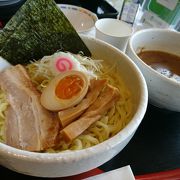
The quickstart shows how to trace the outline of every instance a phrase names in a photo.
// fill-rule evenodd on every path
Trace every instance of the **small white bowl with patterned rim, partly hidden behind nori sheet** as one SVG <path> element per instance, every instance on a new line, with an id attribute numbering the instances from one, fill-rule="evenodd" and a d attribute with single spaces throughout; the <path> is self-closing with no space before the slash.
<path id="1" fill-rule="evenodd" d="M 95 13 L 82 7 L 68 4 L 58 6 L 78 33 L 91 31 L 98 19 Z"/>

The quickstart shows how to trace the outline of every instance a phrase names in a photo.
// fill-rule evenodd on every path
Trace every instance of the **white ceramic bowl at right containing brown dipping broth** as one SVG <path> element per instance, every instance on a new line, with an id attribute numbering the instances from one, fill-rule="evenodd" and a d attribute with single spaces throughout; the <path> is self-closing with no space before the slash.
<path id="1" fill-rule="evenodd" d="M 180 56 L 180 33 L 165 29 L 146 29 L 133 34 L 126 50 L 127 55 L 142 71 L 153 105 L 180 112 L 180 82 L 170 79 L 145 64 L 137 52 L 143 50 L 160 50 Z"/>

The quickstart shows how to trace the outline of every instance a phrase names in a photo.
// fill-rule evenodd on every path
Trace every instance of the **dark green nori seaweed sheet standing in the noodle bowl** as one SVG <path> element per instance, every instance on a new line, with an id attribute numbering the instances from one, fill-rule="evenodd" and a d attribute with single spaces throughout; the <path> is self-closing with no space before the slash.
<path id="1" fill-rule="evenodd" d="M 27 0 L 0 33 L 0 56 L 26 64 L 56 51 L 91 53 L 54 0 Z"/>

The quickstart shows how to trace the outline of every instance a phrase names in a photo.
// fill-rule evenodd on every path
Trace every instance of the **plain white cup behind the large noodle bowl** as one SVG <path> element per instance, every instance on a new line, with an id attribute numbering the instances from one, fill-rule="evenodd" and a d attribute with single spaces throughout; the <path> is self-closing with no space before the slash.
<path id="1" fill-rule="evenodd" d="M 103 18 L 95 23 L 95 36 L 125 52 L 132 26 L 119 19 Z"/>

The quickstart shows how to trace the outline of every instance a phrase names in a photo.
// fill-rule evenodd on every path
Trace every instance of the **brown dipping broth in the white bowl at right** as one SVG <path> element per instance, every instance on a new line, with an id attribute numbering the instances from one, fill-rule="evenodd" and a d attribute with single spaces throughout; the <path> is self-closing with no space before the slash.
<path id="1" fill-rule="evenodd" d="M 153 50 L 141 51 L 137 55 L 157 72 L 180 81 L 180 56 Z"/>

